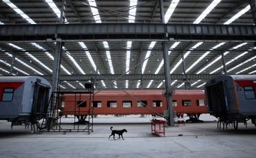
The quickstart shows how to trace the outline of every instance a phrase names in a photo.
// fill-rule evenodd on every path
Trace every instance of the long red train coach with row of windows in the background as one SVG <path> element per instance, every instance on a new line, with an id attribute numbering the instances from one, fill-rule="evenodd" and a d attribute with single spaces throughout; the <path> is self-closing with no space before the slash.
<path id="1" fill-rule="evenodd" d="M 62 114 L 87 116 L 93 106 L 93 115 L 158 115 L 167 110 L 164 91 L 161 90 L 113 90 L 99 91 L 89 103 L 88 94 L 63 95 Z M 198 118 L 207 113 L 202 90 L 176 90 L 173 93 L 173 110 Z M 90 105 L 91 104 L 91 105 Z"/>

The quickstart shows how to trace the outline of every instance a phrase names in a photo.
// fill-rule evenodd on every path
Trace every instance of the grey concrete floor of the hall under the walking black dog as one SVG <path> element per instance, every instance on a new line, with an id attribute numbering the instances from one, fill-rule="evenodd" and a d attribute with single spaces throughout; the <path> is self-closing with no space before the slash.
<path id="1" fill-rule="evenodd" d="M 100 123 L 101 120 L 105 122 Z M 134 123 L 133 120 L 139 120 Z M 107 122 L 106 120 L 109 120 Z M 113 120 L 118 120 L 114 122 Z M 123 120 L 121 122 L 120 120 Z M 216 122 L 167 127 L 166 134 L 152 135 L 148 118 L 96 118 L 94 133 L 31 133 L 23 126 L 0 121 L 0 157 L 256 157 L 256 128 L 218 130 Z M 110 135 L 127 128 L 125 140 Z M 178 136 L 182 134 L 183 136 Z"/>

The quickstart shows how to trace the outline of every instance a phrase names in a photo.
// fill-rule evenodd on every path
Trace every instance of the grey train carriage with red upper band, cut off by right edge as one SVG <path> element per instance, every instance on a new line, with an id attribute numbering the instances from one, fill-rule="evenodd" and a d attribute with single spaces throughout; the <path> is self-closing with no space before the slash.
<path id="1" fill-rule="evenodd" d="M 224 75 L 209 80 L 206 85 L 209 113 L 222 122 L 256 124 L 256 75 Z"/>

